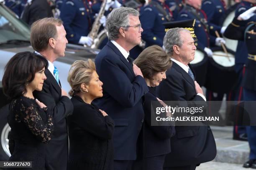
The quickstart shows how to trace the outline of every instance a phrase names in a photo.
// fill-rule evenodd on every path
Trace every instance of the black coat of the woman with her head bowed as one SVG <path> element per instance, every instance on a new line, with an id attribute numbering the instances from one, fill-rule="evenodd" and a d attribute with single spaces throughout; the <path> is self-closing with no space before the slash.
<path id="1" fill-rule="evenodd" d="M 148 89 L 149 92 L 145 95 L 145 102 L 143 105 L 145 114 L 144 157 L 146 158 L 170 153 L 170 138 L 175 134 L 175 128 L 173 125 L 163 126 L 159 124 L 159 126 L 151 126 L 151 107 L 155 110 L 156 107 L 163 106 L 156 99 L 156 91 L 154 90 L 154 87 L 148 87 Z M 154 103 L 151 105 L 151 102 Z M 165 117 L 165 115 L 159 116 Z M 152 118 L 155 119 L 155 117 L 156 114 L 152 115 Z"/>

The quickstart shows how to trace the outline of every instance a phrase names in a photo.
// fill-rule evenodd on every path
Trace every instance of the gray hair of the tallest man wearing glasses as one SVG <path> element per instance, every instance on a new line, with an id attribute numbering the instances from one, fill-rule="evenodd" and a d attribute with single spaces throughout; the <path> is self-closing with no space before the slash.
<path id="1" fill-rule="evenodd" d="M 118 39 L 119 29 L 123 27 L 125 30 L 130 26 L 129 15 L 139 16 L 140 13 L 131 7 L 115 8 L 106 20 L 106 29 L 108 30 L 108 38 L 110 40 Z"/>

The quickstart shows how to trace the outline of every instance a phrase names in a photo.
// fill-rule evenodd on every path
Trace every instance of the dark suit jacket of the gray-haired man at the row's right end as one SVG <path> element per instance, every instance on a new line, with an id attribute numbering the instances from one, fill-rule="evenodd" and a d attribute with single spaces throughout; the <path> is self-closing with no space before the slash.
<path id="1" fill-rule="evenodd" d="M 165 101 L 204 101 L 196 95 L 192 78 L 175 62 L 157 87 L 157 93 Z M 215 158 L 216 144 L 209 126 L 175 126 L 175 131 L 172 152 L 166 155 L 164 167 L 199 164 Z"/>

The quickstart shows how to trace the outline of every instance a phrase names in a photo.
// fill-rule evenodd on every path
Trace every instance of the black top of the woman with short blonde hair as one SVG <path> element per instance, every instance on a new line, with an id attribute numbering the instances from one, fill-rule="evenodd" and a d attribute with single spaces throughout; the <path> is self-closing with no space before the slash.
<path id="1" fill-rule="evenodd" d="M 79 96 L 71 98 L 74 112 L 68 117 L 69 170 L 110 170 L 113 166 L 114 121 Z M 110 168 L 110 169 L 108 169 Z"/>

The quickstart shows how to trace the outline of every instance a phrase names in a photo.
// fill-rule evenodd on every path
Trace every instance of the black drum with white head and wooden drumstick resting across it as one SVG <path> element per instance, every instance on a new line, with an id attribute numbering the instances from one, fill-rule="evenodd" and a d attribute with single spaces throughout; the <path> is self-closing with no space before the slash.
<path id="1" fill-rule="evenodd" d="M 236 82 L 235 52 L 228 50 L 228 56 L 221 47 L 212 49 L 209 57 L 205 87 L 213 92 L 229 92 Z"/>

